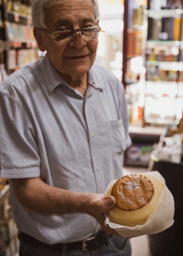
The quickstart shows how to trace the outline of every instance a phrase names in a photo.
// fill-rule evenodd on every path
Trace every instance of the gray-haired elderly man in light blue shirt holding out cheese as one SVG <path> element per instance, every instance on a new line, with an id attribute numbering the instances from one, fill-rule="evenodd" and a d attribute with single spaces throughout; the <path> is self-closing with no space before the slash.
<path id="1" fill-rule="evenodd" d="M 33 31 L 46 56 L 0 86 L 1 177 L 10 180 L 20 256 L 130 256 L 128 239 L 104 224 L 104 196 L 122 176 L 130 145 L 125 92 L 93 65 L 96 0 L 32 0 Z"/>

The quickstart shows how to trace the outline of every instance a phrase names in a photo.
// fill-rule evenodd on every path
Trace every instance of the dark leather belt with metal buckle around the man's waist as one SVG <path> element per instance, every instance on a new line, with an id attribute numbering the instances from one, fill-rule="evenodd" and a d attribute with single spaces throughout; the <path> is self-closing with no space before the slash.
<path id="1" fill-rule="evenodd" d="M 49 250 L 49 251 L 61 251 L 63 245 L 67 246 L 68 251 L 93 251 L 99 247 L 101 247 L 103 244 L 107 244 L 108 237 L 111 237 L 112 235 L 107 235 L 105 231 L 99 231 L 96 234 L 94 234 L 91 237 L 88 237 L 82 241 L 77 241 L 73 243 L 59 243 L 59 244 L 53 244 L 49 245 L 46 243 L 43 243 L 37 239 L 35 239 L 32 236 L 29 236 L 23 232 L 19 232 L 19 239 L 22 240 L 24 243 L 27 243 L 29 245 L 35 246 L 39 249 Z"/>

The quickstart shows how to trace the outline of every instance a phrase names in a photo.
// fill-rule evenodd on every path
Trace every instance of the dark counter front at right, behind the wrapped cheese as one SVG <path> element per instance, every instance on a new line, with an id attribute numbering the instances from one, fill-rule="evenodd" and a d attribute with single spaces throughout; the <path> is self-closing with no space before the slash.
<path id="1" fill-rule="evenodd" d="M 163 232 L 149 235 L 152 256 L 183 255 L 183 165 L 151 161 L 150 170 L 160 172 L 175 202 L 174 224 Z"/>

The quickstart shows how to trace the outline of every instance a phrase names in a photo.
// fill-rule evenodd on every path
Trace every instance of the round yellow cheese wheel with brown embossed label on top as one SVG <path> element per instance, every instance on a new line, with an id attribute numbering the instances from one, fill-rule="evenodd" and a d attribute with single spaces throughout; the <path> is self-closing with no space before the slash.
<path id="1" fill-rule="evenodd" d="M 118 179 L 106 192 L 116 205 L 106 215 L 111 222 L 135 227 L 143 225 L 154 212 L 164 185 L 154 176 L 130 174 Z"/>

